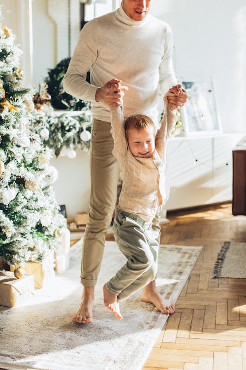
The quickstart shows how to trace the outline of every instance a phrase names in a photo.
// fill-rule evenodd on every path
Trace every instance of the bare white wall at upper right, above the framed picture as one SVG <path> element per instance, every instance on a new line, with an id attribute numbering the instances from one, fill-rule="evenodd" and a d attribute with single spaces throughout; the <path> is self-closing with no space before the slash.
<path id="1" fill-rule="evenodd" d="M 154 0 L 170 24 L 178 77 L 215 82 L 224 132 L 246 131 L 245 0 Z"/>

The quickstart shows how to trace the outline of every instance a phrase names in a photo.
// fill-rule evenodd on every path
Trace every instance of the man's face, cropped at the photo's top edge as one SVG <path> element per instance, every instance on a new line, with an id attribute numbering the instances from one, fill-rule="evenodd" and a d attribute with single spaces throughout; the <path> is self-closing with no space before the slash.
<path id="1" fill-rule="evenodd" d="M 149 12 L 151 2 L 152 0 L 123 0 L 122 6 L 129 18 L 139 22 Z"/>

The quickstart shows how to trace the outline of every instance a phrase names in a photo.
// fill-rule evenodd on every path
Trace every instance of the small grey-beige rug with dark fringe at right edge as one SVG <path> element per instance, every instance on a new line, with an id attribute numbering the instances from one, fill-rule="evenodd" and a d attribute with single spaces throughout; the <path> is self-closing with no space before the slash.
<path id="1" fill-rule="evenodd" d="M 246 279 L 246 243 L 224 242 L 215 262 L 213 278 Z"/>

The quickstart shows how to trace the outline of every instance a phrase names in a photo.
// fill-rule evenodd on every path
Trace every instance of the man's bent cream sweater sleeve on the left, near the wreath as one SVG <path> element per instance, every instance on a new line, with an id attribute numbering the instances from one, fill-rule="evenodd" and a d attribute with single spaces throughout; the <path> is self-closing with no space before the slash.
<path id="1" fill-rule="evenodd" d="M 95 101 L 98 87 L 86 81 L 86 74 L 97 58 L 97 33 L 98 27 L 95 20 L 83 27 L 63 77 L 63 87 L 68 94 L 90 102 Z"/>

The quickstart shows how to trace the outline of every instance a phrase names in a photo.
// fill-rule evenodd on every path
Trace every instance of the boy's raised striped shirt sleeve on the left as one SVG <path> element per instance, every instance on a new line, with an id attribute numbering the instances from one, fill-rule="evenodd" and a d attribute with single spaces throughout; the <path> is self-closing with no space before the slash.
<path id="1" fill-rule="evenodd" d="M 114 139 L 113 154 L 116 158 L 125 155 L 127 141 L 124 132 L 123 107 L 110 107 L 111 134 Z"/>

